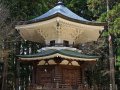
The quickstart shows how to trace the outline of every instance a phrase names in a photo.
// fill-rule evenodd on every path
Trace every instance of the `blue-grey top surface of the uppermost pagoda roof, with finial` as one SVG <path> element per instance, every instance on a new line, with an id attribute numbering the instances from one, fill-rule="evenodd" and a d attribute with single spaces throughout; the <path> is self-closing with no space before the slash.
<path id="1" fill-rule="evenodd" d="M 77 14 L 73 13 L 71 10 L 69 10 L 67 7 L 65 7 L 62 2 L 58 2 L 54 8 L 52 8 L 45 14 L 30 20 L 29 22 L 41 21 L 43 19 L 49 18 L 49 17 L 57 15 L 57 14 L 68 17 L 70 19 L 89 22 L 87 19 L 84 19 L 84 18 L 78 16 Z"/>

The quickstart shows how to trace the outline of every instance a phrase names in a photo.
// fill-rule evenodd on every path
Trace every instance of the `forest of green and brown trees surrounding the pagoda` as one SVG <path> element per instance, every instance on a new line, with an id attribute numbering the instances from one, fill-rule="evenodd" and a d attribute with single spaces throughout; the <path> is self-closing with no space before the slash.
<path id="1" fill-rule="evenodd" d="M 18 62 L 15 59 L 16 45 L 21 42 L 20 50 L 26 50 L 27 42 L 22 40 L 18 32 L 14 29 L 16 24 L 30 20 L 42 15 L 53 8 L 58 0 L 0 0 L 0 88 L 4 80 L 7 80 L 6 88 L 19 87 L 18 78 L 21 78 L 22 88 L 27 87 L 30 70 L 28 65 L 20 64 L 17 71 Z M 113 54 L 115 58 L 115 80 L 120 86 L 120 0 L 109 0 L 110 10 L 107 15 L 106 0 L 63 0 L 65 6 L 79 16 L 91 21 L 110 21 L 109 30 L 104 30 L 101 38 L 96 43 L 85 44 L 82 50 L 84 53 L 94 53 L 100 55 L 94 70 L 88 70 L 87 75 L 90 85 L 109 84 L 109 48 L 108 35 L 112 35 Z M 107 17 L 109 16 L 109 17 Z M 37 47 L 36 47 L 37 48 Z M 37 49 L 36 49 L 37 50 Z M 94 51 L 93 51 L 94 50 Z M 2 53 L 8 53 L 7 58 L 2 57 Z M 3 63 L 4 62 L 4 63 Z M 3 67 L 6 66 L 7 69 Z M 5 79 L 3 80 L 3 71 Z M 19 75 L 18 75 L 19 73 Z M 26 78 L 27 77 L 27 78 Z"/>

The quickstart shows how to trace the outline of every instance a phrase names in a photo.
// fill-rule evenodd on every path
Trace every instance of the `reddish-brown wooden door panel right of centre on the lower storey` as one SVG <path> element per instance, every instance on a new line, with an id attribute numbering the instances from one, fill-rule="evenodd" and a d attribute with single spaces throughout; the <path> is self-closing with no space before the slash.
<path id="1" fill-rule="evenodd" d="M 77 67 L 66 67 L 63 68 L 63 83 L 68 84 L 72 87 L 78 86 L 81 80 L 80 69 Z"/>

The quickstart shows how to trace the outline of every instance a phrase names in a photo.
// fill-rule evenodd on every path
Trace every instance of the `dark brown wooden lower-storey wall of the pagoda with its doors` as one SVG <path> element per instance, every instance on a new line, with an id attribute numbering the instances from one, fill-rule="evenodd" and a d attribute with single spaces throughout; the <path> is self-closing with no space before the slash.
<path id="1" fill-rule="evenodd" d="M 60 84 L 60 87 L 72 86 L 75 88 L 81 83 L 82 75 L 81 69 L 77 66 L 59 66 L 55 69 L 55 66 L 38 66 L 36 72 L 36 84 L 46 85 L 51 84 L 56 87 L 56 83 Z"/>

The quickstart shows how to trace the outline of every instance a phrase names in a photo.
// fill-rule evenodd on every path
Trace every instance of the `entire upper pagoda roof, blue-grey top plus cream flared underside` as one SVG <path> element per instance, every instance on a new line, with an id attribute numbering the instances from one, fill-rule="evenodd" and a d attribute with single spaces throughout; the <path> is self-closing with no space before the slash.
<path id="1" fill-rule="evenodd" d="M 22 23 L 21 23 L 22 24 Z M 104 30 L 105 23 L 88 21 L 64 6 L 62 2 L 45 14 L 17 25 L 23 39 L 49 44 L 51 40 L 56 43 L 69 41 L 69 44 L 79 44 L 97 41 L 100 32 Z"/>

